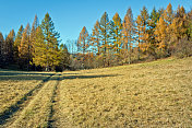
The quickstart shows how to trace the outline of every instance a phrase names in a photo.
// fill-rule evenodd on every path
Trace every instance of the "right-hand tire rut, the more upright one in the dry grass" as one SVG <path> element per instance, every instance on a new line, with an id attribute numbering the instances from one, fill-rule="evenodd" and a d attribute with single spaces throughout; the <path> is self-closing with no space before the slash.
<path id="1" fill-rule="evenodd" d="M 61 74 L 58 74 L 57 84 L 55 86 L 52 97 L 51 97 L 51 106 L 50 106 L 48 128 L 56 128 L 57 124 L 59 121 L 59 117 L 58 117 L 57 112 L 58 112 L 58 108 L 59 108 L 60 81 L 61 81 Z"/>

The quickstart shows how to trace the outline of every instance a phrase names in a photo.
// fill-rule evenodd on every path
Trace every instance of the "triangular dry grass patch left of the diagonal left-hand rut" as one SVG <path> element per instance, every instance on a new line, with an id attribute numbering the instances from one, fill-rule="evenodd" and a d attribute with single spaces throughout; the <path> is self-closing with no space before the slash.
<path id="1" fill-rule="evenodd" d="M 0 114 L 16 104 L 26 93 L 36 88 L 48 74 L 22 71 L 0 71 Z"/>

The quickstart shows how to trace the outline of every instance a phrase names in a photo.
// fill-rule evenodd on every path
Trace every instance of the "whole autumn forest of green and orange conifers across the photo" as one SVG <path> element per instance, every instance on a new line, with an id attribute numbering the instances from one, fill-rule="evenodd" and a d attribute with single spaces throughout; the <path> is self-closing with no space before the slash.
<path id="1" fill-rule="evenodd" d="M 71 43 L 71 44 L 70 44 Z M 75 45 L 75 46 L 74 46 Z M 172 10 L 145 7 L 133 19 L 131 8 L 123 20 L 116 13 L 109 20 L 105 12 L 88 33 L 84 26 L 75 43 L 67 45 L 59 39 L 53 22 L 47 13 L 38 24 L 37 15 L 32 27 L 21 25 L 15 35 L 0 33 L 0 68 L 22 70 L 65 70 L 111 67 L 166 57 L 192 56 L 192 10 L 183 7 Z"/>

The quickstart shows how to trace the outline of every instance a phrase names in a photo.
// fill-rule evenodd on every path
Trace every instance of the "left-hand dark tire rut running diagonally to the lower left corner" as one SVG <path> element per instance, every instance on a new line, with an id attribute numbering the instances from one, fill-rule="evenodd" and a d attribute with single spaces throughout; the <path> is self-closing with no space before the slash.
<path id="1" fill-rule="evenodd" d="M 14 115 L 22 112 L 24 107 L 29 103 L 29 101 L 40 91 L 46 82 L 55 74 L 50 74 L 48 78 L 44 79 L 39 84 L 37 84 L 33 90 L 26 93 L 22 98 L 20 98 L 15 104 L 11 105 L 7 110 L 0 114 L 0 128 L 8 126 L 14 121 Z M 8 124 L 8 125 L 7 125 Z"/>

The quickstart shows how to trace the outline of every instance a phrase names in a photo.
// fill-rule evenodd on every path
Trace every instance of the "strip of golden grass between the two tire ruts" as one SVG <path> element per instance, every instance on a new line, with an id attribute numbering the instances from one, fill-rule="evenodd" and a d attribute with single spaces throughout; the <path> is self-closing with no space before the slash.
<path id="1" fill-rule="evenodd" d="M 51 100 L 57 84 L 56 77 L 48 81 L 35 98 L 24 108 L 20 117 L 10 128 L 37 128 L 48 127 L 51 113 Z"/>

